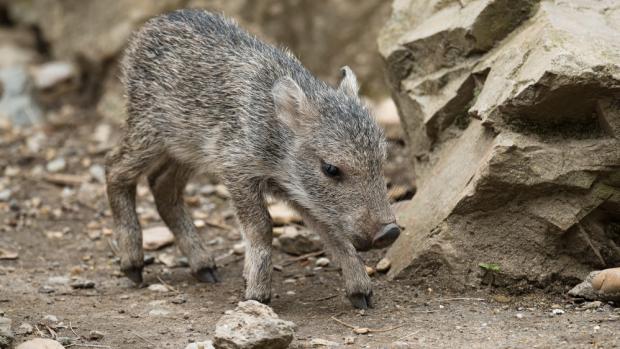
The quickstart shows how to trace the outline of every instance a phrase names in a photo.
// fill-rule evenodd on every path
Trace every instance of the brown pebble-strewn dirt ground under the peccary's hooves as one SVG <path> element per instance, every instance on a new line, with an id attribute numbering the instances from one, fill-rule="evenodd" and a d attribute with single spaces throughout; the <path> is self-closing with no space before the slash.
<path id="1" fill-rule="evenodd" d="M 221 283 L 201 284 L 187 267 L 158 262 L 162 254 L 180 257 L 173 245 L 149 253 L 155 262 L 145 274 L 146 284 L 163 281 L 169 291 L 133 286 L 119 274 L 111 248 L 104 186 L 88 179 L 106 149 L 95 126 L 69 117 L 41 131 L 45 137 L 2 131 L 0 186 L 11 195 L 0 202 L 0 248 L 19 256 L 0 260 L 0 310 L 13 321 L 16 343 L 57 336 L 69 337 L 71 347 L 184 348 L 211 338 L 218 318 L 235 307 L 243 290 L 242 257 L 229 254 L 240 239 L 229 203 L 216 194 L 201 194 L 207 178 L 188 188 L 194 212 L 206 214 L 209 223 L 200 229 L 202 236 L 215 256 L 223 256 Z M 117 135 L 113 129 L 110 142 Z M 37 137 L 40 144 L 33 145 Z M 393 145 L 388 168 L 395 181 L 406 177 L 399 147 Z M 54 184 L 58 178 L 44 179 L 46 164 L 58 157 L 66 160 L 61 173 L 86 175 L 87 184 L 80 183 L 81 177 L 65 178 L 66 185 Z M 162 224 L 144 183 L 138 196 L 143 226 Z M 381 256 L 381 251 L 364 254 L 371 266 Z M 276 251 L 274 262 L 284 265 L 291 258 Z M 94 281 L 94 288 L 73 289 L 72 278 Z M 586 309 L 593 305 L 542 291 L 506 295 L 480 286 L 451 294 L 439 285 L 390 281 L 382 274 L 373 279 L 375 307 L 359 311 L 343 297 L 336 268 L 316 270 L 312 260 L 295 262 L 274 273 L 271 306 L 298 325 L 293 347 L 307 347 L 315 338 L 344 345 L 345 337 L 354 338 L 350 348 L 620 347 L 620 309 L 609 304 Z M 554 308 L 564 313 L 551 315 Z M 356 335 L 334 318 L 383 331 Z M 24 333 L 23 323 L 34 327 L 32 333 Z M 91 331 L 103 338 L 95 339 Z"/>

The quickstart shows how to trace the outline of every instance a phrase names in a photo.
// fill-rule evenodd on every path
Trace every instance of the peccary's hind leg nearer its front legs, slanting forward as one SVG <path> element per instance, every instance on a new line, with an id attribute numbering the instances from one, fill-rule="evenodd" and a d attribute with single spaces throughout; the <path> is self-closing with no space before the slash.
<path id="1" fill-rule="evenodd" d="M 157 211 L 176 237 L 192 274 L 202 282 L 217 282 L 215 261 L 198 235 L 183 200 L 183 190 L 191 175 L 189 167 L 170 160 L 150 174 L 148 179 Z"/>

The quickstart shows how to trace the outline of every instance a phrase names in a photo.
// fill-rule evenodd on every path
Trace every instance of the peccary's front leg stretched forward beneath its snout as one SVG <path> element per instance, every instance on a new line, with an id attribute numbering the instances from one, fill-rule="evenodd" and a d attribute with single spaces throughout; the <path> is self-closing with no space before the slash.
<path id="1" fill-rule="evenodd" d="M 353 244 L 339 232 L 330 231 L 325 224 L 315 220 L 303 209 L 298 210 L 302 212 L 304 223 L 320 235 L 325 250 L 342 269 L 345 290 L 351 304 L 359 309 L 372 307 L 372 281 Z"/>

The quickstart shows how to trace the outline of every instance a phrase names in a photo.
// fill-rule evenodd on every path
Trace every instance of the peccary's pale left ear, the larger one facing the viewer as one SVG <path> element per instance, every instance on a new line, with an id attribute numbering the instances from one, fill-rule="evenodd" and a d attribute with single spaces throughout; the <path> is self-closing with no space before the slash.
<path id="1" fill-rule="evenodd" d="M 299 130 L 310 112 L 308 99 L 301 87 L 290 77 L 276 81 L 271 89 L 276 116 L 293 131 Z"/>

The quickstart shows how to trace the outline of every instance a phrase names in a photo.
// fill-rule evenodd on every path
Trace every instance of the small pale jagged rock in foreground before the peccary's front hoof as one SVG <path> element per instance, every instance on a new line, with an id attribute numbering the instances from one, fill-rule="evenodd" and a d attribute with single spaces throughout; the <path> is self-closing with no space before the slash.
<path id="1" fill-rule="evenodd" d="M 293 340 L 295 324 L 282 320 L 257 301 L 239 302 L 215 328 L 216 349 L 284 349 Z"/>

